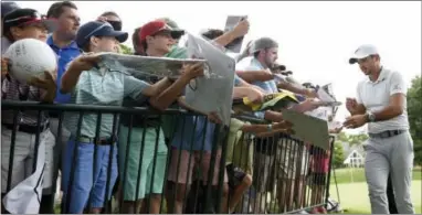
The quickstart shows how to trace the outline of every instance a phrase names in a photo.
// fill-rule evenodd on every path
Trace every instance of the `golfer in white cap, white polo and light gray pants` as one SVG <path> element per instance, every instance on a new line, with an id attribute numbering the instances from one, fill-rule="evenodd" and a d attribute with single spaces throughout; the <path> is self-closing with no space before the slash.
<path id="1" fill-rule="evenodd" d="M 358 63 L 368 76 L 358 84 L 356 99 L 347 98 L 346 107 L 351 117 L 344 126 L 359 128 L 368 123 L 365 173 L 372 214 L 389 214 L 387 179 L 390 172 L 399 214 L 414 214 L 410 197 L 413 140 L 409 132 L 403 77 L 381 66 L 380 55 L 372 45 L 361 45 L 349 63 Z"/>

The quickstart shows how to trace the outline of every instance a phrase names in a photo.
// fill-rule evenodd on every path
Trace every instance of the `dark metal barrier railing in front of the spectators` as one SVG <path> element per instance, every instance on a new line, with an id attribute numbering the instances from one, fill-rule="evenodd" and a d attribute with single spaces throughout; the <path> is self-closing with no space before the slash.
<path id="1" fill-rule="evenodd" d="M 35 174 L 44 146 L 38 185 L 53 195 L 61 172 L 56 213 L 295 213 L 328 200 L 333 141 L 325 151 L 283 133 L 259 138 L 249 131 L 265 122 L 254 118 L 236 117 L 243 127 L 234 129 L 180 109 L 11 100 L 1 107 L 13 114 L 10 125 L 2 119 L 2 198 Z M 18 126 L 28 110 L 36 112 L 30 135 Z M 48 112 L 55 118 L 43 126 Z M 169 118 L 172 130 L 162 132 Z M 22 153 L 22 144 L 31 150 Z M 18 174 L 28 158 L 32 168 Z M 54 198 L 40 202 L 40 213 L 45 205 L 53 212 Z"/>

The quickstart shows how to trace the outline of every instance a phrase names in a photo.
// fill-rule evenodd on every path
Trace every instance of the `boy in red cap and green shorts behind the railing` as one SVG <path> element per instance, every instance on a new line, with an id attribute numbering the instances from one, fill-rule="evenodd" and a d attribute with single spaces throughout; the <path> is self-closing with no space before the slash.
<path id="1" fill-rule="evenodd" d="M 140 28 L 138 32 L 138 40 L 141 44 L 141 53 L 148 56 L 162 57 L 167 54 L 173 45 L 173 40 L 180 37 L 182 32 L 180 30 L 172 30 L 161 20 L 151 21 Z M 167 78 L 158 80 L 158 83 L 166 82 Z M 168 87 L 168 86 L 163 86 Z M 166 88 L 163 88 L 166 89 Z M 182 89 L 172 90 L 172 97 L 167 97 L 169 100 L 166 106 L 171 105 L 175 98 L 178 97 Z M 170 89 L 166 90 L 169 93 Z M 126 107 L 133 106 L 146 106 L 148 104 L 139 104 L 133 99 L 125 99 L 124 105 Z M 124 208 L 128 209 L 128 213 L 140 213 L 134 207 L 134 202 L 140 202 L 149 195 L 150 213 L 159 213 L 161 203 L 162 186 L 166 183 L 165 171 L 167 165 L 167 147 L 165 143 L 165 136 L 162 129 L 157 130 L 160 126 L 160 116 L 148 117 L 134 117 L 133 128 L 130 136 L 130 149 L 127 146 L 127 133 L 129 131 L 130 118 L 129 116 L 123 116 L 120 125 L 119 147 L 122 149 L 120 157 L 120 180 L 124 185 Z M 146 130 L 145 141 L 143 141 L 143 133 Z M 156 140 L 158 136 L 158 149 L 156 149 Z M 144 144 L 144 147 L 143 147 Z M 140 150 L 143 155 L 140 157 Z M 129 158 L 126 157 L 126 150 L 129 150 Z M 143 160 L 140 160 L 143 158 Z M 128 159 L 128 164 L 125 166 L 125 160 Z M 154 159 L 156 159 L 154 161 Z M 141 164 L 139 164 L 141 162 Z M 155 165 L 154 165 L 155 163 Z M 139 170 L 140 166 L 141 169 Z M 140 180 L 138 173 L 140 171 Z M 152 172 L 155 173 L 152 175 Z M 154 180 L 154 181 L 151 181 Z M 152 193 L 149 193 L 152 186 Z M 138 194 L 136 191 L 139 191 Z M 138 196 L 138 200 L 136 200 Z"/>

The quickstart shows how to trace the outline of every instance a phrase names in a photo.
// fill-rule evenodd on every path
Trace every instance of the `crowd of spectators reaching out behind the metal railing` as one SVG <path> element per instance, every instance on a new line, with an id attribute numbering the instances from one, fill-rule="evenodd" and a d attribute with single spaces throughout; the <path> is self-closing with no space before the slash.
<path id="1" fill-rule="evenodd" d="M 312 204 L 324 203 L 330 152 L 292 140 L 292 123 L 279 111 L 251 112 L 262 123 L 233 116 L 226 143 L 219 144 L 213 159 L 213 144 L 222 141 L 214 136 L 223 132 L 221 120 L 215 112 L 190 107 L 183 97 L 190 80 L 203 75 L 201 64 L 187 65 L 178 78 L 137 79 L 118 73 L 125 69 L 120 64 L 101 68 L 95 53 L 123 53 L 120 44 L 129 39 L 122 31 L 124 20 L 116 12 L 106 11 L 97 20 L 81 20 L 77 6 L 71 1 L 54 2 L 48 11 L 22 7 L 1 3 L 2 54 L 19 40 L 36 39 L 56 53 L 57 69 L 22 84 L 9 75 L 9 60 L 2 57 L 2 99 L 161 111 L 177 107 L 199 116 L 120 115 L 118 132 L 114 132 L 114 116 L 103 114 L 97 132 L 96 114 L 85 114 L 80 119 L 78 112 L 65 112 L 60 120 L 57 111 L 42 111 L 40 118 L 38 111 L 24 110 L 19 112 L 15 127 L 13 111 L 2 110 L 2 197 L 32 174 L 35 142 L 40 141 L 46 146 L 40 213 L 54 213 L 57 200 L 53 184 L 57 180 L 63 192 L 63 213 L 102 213 L 114 196 L 122 203 L 119 213 L 158 214 L 165 198 L 167 213 L 182 214 L 192 212 L 196 204 L 187 196 L 198 187 L 205 190 L 208 183 L 213 193 L 222 187 L 222 213 L 271 213 L 268 193 L 275 196 L 277 212 L 300 209 L 308 205 L 306 189 L 310 185 Z M 201 36 L 229 52 L 224 47 L 247 34 L 249 28 L 249 21 L 242 20 L 231 31 L 208 29 Z M 145 20 L 130 36 L 133 54 L 188 58 L 186 46 L 179 44 L 186 30 L 169 18 Z M 277 63 L 277 53 L 276 39 L 259 37 L 247 43 L 234 60 L 233 99 L 246 97 L 259 104 L 266 95 L 291 92 L 299 103 L 286 108 L 302 114 L 319 108 L 316 89 L 293 79 L 292 72 Z M 18 130 L 14 150 L 10 150 L 13 129 Z M 220 165 L 222 154 L 224 169 Z M 250 201 L 245 203 L 246 198 Z M 312 213 L 325 211 L 318 206 Z"/>

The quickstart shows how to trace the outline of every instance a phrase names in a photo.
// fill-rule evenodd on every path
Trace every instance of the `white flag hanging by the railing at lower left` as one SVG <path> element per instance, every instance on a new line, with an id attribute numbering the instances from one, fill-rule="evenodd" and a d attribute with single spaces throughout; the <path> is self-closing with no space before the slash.
<path id="1" fill-rule="evenodd" d="M 33 174 L 9 191 L 3 197 L 4 208 L 11 214 L 39 214 L 45 166 L 45 143 L 40 141 L 36 169 Z"/>

